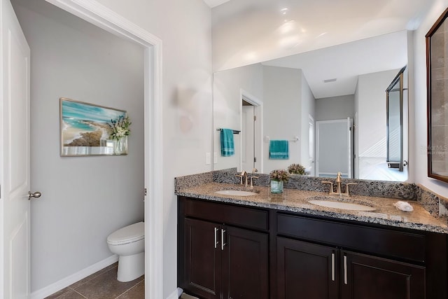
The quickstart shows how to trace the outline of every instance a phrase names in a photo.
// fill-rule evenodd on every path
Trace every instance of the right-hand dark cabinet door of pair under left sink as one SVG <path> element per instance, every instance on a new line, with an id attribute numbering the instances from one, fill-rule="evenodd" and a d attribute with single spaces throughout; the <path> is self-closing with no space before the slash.
<path id="1" fill-rule="evenodd" d="M 267 299 L 267 233 L 224 227 L 223 298 Z"/>

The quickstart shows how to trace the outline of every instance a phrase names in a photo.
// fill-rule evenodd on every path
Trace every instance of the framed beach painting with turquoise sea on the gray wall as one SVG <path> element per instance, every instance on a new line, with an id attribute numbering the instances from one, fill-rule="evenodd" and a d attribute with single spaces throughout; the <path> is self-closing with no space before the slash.
<path id="1" fill-rule="evenodd" d="M 64 97 L 59 99 L 59 109 L 61 156 L 115 155 L 109 124 L 126 117 L 126 111 Z"/>

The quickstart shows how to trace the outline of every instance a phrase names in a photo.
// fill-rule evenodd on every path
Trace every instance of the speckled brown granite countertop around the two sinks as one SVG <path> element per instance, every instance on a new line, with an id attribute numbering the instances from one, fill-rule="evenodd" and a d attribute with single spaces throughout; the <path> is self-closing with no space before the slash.
<path id="1" fill-rule="evenodd" d="M 314 216 L 325 216 L 365 223 L 377 223 L 381 225 L 391 225 L 400 228 L 411 228 L 415 230 L 426 230 L 430 232 L 448 233 L 447 218 L 435 218 L 424 209 L 419 202 L 408 201 L 414 211 L 400 211 L 393 205 L 397 199 L 386 197 L 368 197 L 353 195 L 350 197 L 338 195 L 328 195 L 323 192 L 305 191 L 297 189 L 284 189 L 282 194 L 272 194 L 268 187 L 255 186 L 253 192 L 257 195 L 233 196 L 220 195 L 215 193 L 218 190 L 248 190 L 241 185 L 230 183 L 204 183 L 190 188 L 180 188 L 176 195 L 187 197 L 197 197 L 203 200 L 216 202 L 228 202 L 232 204 L 242 204 L 251 207 L 262 207 L 276 209 L 279 211 L 292 211 Z M 308 200 L 321 199 L 325 197 L 357 204 L 365 204 L 374 207 L 373 211 L 353 211 L 347 209 L 334 209 L 311 204 Z"/>

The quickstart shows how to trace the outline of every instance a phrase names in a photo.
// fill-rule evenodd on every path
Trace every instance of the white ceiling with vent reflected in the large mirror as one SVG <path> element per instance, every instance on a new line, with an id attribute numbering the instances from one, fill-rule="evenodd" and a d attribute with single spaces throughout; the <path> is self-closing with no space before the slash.
<path id="1" fill-rule="evenodd" d="M 407 64 L 407 31 L 290 55 L 262 64 L 302 69 L 316 99 L 353 95 L 358 75 L 401 69 Z M 336 81 L 332 81 L 334 79 Z M 330 82 L 325 82 L 328 80 Z"/>

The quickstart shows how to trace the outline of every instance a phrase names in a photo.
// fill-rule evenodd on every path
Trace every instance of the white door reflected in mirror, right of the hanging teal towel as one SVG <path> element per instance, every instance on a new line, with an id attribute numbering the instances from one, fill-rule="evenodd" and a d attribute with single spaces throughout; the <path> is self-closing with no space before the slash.
<path id="1" fill-rule="evenodd" d="M 254 111 L 253 106 L 243 106 L 243 127 L 241 129 L 241 171 L 252 172 L 255 167 L 254 153 Z"/>

